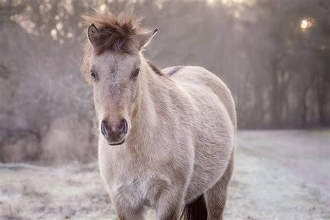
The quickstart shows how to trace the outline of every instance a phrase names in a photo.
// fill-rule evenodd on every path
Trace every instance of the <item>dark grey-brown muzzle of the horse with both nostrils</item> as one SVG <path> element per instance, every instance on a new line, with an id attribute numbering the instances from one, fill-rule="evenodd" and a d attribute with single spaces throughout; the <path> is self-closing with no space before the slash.
<path id="1" fill-rule="evenodd" d="M 125 143 L 127 131 L 128 124 L 125 118 L 120 120 L 120 123 L 116 124 L 109 123 L 107 120 L 102 120 L 101 133 L 111 146 Z"/>

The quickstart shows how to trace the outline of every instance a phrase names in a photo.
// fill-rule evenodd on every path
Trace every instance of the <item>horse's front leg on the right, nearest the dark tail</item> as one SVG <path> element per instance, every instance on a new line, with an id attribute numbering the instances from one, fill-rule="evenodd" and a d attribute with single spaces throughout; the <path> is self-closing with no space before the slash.
<path id="1" fill-rule="evenodd" d="M 184 189 L 166 190 L 159 196 L 155 207 L 157 220 L 178 220 L 184 203 Z"/>

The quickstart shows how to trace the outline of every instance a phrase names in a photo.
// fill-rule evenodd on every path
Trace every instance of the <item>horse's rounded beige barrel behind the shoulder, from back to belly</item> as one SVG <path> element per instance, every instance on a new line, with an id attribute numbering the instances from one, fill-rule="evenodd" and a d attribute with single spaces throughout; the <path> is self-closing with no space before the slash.
<path id="1" fill-rule="evenodd" d="M 203 193 L 199 189 L 212 187 L 228 166 L 235 148 L 235 104 L 226 84 L 204 68 L 178 66 L 163 71 L 193 103 L 188 123 L 194 125 L 194 173 L 186 196 L 191 201 Z"/>

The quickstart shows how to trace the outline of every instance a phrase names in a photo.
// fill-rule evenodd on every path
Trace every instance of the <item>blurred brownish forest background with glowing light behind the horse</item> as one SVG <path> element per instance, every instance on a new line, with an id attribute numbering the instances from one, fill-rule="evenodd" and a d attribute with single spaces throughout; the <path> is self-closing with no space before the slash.
<path id="1" fill-rule="evenodd" d="M 0 162 L 95 158 L 80 73 L 92 8 L 134 8 L 160 31 L 160 68 L 201 65 L 228 85 L 244 129 L 330 125 L 330 1 L 0 0 Z"/>

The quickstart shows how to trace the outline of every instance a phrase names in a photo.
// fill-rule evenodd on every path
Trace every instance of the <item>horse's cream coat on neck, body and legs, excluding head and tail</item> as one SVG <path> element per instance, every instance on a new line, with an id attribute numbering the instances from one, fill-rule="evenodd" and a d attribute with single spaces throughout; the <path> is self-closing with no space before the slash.
<path id="1" fill-rule="evenodd" d="M 184 203 L 205 194 L 211 210 L 224 206 L 236 139 L 233 97 L 223 82 L 204 68 L 185 66 L 170 78 L 152 71 L 142 54 L 136 115 L 121 146 L 98 143 L 100 172 L 120 219 L 141 219 L 143 206 L 157 219 L 178 219 Z M 168 72 L 171 68 L 163 71 Z M 228 171 L 228 180 L 231 175 Z M 222 188 L 221 188 L 222 189 Z M 207 192 L 209 192 L 207 195 Z M 212 217 L 214 216 L 214 217 Z"/>

